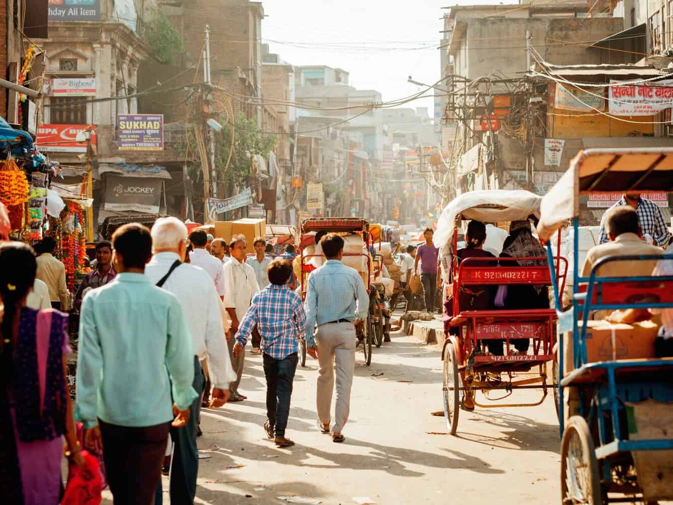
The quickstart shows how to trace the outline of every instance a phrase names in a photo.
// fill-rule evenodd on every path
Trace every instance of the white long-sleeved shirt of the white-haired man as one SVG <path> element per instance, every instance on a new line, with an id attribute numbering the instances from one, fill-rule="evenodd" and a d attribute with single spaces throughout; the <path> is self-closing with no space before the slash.
<path id="1" fill-rule="evenodd" d="M 145 275 L 157 283 L 179 259 L 176 253 L 158 253 L 145 265 Z M 219 260 L 215 258 L 219 263 Z M 192 334 L 194 354 L 208 359 L 208 372 L 213 385 L 229 389 L 236 373 L 229 358 L 227 339 L 221 316 L 221 300 L 209 275 L 199 267 L 183 263 L 166 279 L 163 288 L 174 294 Z"/>

